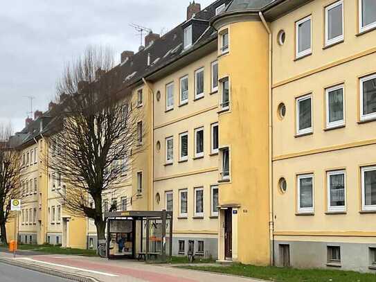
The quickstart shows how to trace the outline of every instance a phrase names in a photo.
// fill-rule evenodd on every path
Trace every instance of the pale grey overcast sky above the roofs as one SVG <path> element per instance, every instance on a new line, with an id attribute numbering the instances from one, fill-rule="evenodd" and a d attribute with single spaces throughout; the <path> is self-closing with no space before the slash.
<path id="1" fill-rule="evenodd" d="M 196 1 L 202 8 L 214 0 Z M 173 3 L 173 4 L 170 4 Z M 186 19 L 189 0 L 1 0 L 0 123 L 24 127 L 30 103 L 45 111 L 66 61 L 88 44 L 110 46 L 116 60 L 137 51 L 129 24 L 165 33 Z"/>

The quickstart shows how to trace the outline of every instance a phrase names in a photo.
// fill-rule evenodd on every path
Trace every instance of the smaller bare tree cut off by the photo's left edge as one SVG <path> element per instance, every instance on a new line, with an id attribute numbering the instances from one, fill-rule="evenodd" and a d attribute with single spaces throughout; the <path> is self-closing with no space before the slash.
<path id="1" fill-rule="evenodd" d="M 6 223 L 13 216 L 10 212 L 10 200 L 19 198 L 21 158 L 11 138 L 11 126 L 0 124 L 0 230 L 3 243 L 8 242 Z"/>

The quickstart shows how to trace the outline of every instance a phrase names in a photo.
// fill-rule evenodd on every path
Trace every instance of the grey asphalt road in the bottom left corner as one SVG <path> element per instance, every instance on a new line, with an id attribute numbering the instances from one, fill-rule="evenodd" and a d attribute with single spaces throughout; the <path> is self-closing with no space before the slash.
<path id="1" fill-rule="evenodd" d="M 26 270 L 22 267 L 0 263 L 1 282 L 71 282 L 48 274 Z"/>

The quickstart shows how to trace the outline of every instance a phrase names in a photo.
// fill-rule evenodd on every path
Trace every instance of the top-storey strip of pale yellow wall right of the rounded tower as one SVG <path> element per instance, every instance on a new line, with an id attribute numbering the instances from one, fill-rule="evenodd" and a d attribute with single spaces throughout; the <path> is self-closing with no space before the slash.
<path id="1" fill-rule="evenodd" d="M 357 0 L 344 0 L 344 39 L 345 42 L 323 50 L 324 46 L 324 7 L 333 0 L 315 0 L 280 17 L 271 23 L 273 33 L 273 82 L 274 84 L 298 76 L 305 71 L 322 67 L 337 60 L 347 58 L 368 49 L 375 49 L 376 33 L 370 32 L 357 37 Z M 312 15 L 312 55 L 301 60 L 295 59 L 295 21 Z M 279 30 L 285 30 L 283 46 L 277 43 Z"/>

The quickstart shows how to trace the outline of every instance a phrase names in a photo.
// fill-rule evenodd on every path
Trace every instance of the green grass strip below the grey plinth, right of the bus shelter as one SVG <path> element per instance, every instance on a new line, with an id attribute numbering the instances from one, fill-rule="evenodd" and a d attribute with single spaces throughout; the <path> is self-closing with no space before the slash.
<path id="1" fill-rule="evenodd" d="M 376 274 L 362 274 L 341 270 L 297 270 L 282 267 L 259 267 L 234 264 L 231 266 L 180 266 L 223 274 L 247 276 L 278 282 L 375 282 Z"/>

